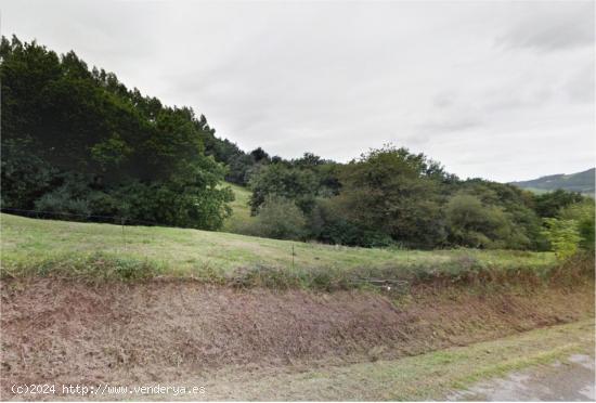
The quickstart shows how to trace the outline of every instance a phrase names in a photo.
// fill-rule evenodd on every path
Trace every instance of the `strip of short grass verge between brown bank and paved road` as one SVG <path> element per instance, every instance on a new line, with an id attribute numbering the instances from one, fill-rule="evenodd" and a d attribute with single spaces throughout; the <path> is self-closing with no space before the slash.
<path id="1" fill-rule="evenodd" d="M 399 360 L 281 372 L 252 369 L 223 376 L 210 387 L 216 400 L 432 401 L 507 373 L 594 354 L 594 320 L 552 326 L 497 340 L 438 350 Z M 193 379 L 187 380 L 193 385 Z M 195 381 L 196 382 L 196 381 Z M 483 396 L 451 396 L 483 400 Z"/>

